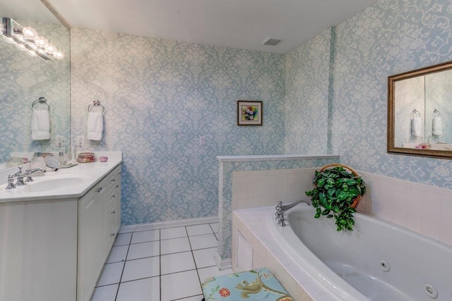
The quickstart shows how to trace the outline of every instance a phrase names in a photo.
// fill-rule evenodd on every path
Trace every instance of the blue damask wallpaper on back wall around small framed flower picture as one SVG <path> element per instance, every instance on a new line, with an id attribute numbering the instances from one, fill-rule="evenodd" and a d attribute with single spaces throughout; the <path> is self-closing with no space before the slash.
<path id="1" fill-rule="evenodd" d="M 284 55 L 79 28 L 71 44 L 71 134 L 100 100 L 86 149 L 123 152 L 124 225 L 217 216 L 215 156 L 284 153 Z M 237 125 L 239 99 L 263 102 L 262 126 Z"/>

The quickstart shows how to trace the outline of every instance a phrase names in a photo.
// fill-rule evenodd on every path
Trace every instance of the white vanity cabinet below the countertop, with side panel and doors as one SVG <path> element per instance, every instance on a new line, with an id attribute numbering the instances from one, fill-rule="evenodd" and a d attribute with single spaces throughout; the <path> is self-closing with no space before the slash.
<path id="1" fill-rule="evenodd" d="M 121 223 L 121 165 L 82 194 L 0 199 L 0 301 L 90 300 Z"/>

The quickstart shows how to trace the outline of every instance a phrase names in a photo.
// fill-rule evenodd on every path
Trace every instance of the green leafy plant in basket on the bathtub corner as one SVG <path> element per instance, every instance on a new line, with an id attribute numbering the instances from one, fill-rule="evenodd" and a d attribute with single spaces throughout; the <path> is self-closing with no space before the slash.
<path id="1" fill-rule="evenodd" d="M 357 197 L 366 192 L 364 180 L 343 166 L 335 166 L 316 171 L 313 183 L 316 188 L 307 191 L 306 195 L 311 197 L 312 206 L 316 208 L 314 217 L 334 217 L 338 231 L 353 231 L 356 209 L 351 206 Z"/>

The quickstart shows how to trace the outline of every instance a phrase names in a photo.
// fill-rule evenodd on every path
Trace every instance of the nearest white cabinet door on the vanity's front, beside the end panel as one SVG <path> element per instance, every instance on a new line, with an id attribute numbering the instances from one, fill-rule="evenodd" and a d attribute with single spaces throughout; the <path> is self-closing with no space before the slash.
<path id="1" fill-rule="evenodd" d="M 88 301 L 105 261 L 105 183 L 78 200 L 78 301 Z"/>

